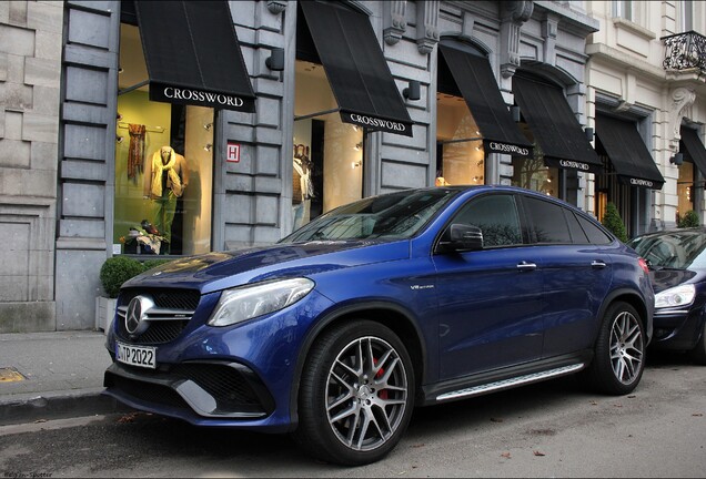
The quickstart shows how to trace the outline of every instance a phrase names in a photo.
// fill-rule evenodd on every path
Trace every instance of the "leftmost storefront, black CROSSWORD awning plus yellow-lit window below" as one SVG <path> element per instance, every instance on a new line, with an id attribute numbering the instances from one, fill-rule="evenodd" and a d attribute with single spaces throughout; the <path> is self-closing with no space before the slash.
<path id="1" fill-rule="evenodd" d="M 122 2 L 118 72 L 113 253 L 211 251 L 214 116 L 255 106 L 229 6 Z"/>

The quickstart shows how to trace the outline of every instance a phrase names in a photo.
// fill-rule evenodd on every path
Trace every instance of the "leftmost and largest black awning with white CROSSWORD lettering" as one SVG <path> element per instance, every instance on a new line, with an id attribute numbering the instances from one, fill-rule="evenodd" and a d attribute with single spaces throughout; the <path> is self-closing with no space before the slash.
<path id="1" fill-rule="evenodd" d="M 135 1 L 150 100 L 255 111 L 226 1 Z"/>

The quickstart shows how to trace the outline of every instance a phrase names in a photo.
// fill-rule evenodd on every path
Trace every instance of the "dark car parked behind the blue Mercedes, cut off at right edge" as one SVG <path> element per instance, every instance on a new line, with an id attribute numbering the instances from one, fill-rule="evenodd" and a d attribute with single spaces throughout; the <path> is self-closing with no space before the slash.
<path id="1" fill-rule="evenodd" d="M 655 349 L 687 350 L 706 365 L 706 230 L 637 236 L 628 243 L 646 261 L 655 289 Z"/>

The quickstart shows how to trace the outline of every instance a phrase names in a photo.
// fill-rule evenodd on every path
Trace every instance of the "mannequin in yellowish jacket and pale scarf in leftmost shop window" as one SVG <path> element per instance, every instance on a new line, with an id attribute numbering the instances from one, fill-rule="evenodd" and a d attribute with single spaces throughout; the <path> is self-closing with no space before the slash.
<path id="1" fill-rule="evenodd" d="M 154 152 L 144 172 L 144 197 L 152 200 L 152 225 L 164 237 L 164 253 L 169 254 L 172 238 L 172 221 L 176 211 L 176 200 L 189 184 L 186 159 L 171 146 L 162 146 Z"/>

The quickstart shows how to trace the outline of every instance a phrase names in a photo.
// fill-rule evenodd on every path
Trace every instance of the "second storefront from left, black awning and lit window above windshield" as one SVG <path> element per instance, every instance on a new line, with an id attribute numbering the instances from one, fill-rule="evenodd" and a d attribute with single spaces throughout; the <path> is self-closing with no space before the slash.
<path id="1" fill-rule="evenodd" d="M 293 126 L 293 230 L 366 195 L 372 132 L 412 136 L 367 16 L 299 2 Z"/>

